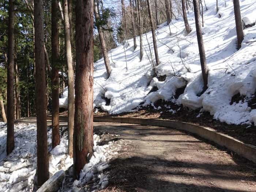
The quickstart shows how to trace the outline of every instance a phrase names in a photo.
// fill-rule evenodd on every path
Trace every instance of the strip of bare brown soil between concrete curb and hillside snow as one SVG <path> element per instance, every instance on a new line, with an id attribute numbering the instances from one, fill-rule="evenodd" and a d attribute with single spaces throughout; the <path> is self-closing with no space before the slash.
<path id="1" fill-rule="evenodd" d="M 254 98 L 253 98 L 254 99 Z M 255 100 L 255 99 L 254 99 Z M 251 101 L 252 102 L 252 101 Z M 170 106 L 166 108 L 165 105 Z M 213 119 L 209 112 L 200 113 L 200 109 L 191 110 L 183 108 L 182 105 L 176 105 L 172 102 L 162 102 L 161 100 L 155 103 L 155 106 L 161 106 L 161 110 L 155 110 L 152 106 L 141 108 L 138 112 L 122 113 L 111 115 L 116 117 L 138 117 L 138 118 L 162 118 L 165 120 L 175 120 L 187 123 L 193 123 L 201 126 L 213 128 L 219 132 L 225 133 L 233 138 L 241 140 L 244 143 L 256 146 L 256 127 L 252 125 L 229 125 L 222 123 L 219 120 Z M 253 105 L 256 106 L 256 105 Z M 172 114 L 168 110 L 173 109 L 176 113 Z M 200 113 L 200 117 L 198 114 Z M 98 112 L 97 115 L 110 116 L 106 112 Z"/>

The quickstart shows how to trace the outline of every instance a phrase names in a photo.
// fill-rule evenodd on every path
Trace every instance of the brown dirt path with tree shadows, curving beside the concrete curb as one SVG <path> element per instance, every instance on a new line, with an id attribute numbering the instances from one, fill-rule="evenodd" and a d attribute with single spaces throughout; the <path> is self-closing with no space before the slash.
<path id="1" fill-rule="evenodd" d="M 131 124 L 94 126 L 125 143 L 110 163 L 106 191 L 256 191 L 255 164 L 188 133 Z"/>

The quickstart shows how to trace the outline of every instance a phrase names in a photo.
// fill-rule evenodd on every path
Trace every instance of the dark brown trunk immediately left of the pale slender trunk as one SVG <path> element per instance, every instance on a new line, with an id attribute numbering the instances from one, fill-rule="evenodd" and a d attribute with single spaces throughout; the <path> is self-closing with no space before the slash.
<path id="1" fill-rule="evenodd" d="M 52 148 L 60 144 L 59 124 L 59 1 L 52 0 Z"/>

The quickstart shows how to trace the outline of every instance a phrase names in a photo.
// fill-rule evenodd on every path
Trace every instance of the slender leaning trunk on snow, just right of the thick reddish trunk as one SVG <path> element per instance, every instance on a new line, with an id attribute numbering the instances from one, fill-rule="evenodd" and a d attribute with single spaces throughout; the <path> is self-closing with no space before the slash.
<path id="1" fill-rule="evenodd" d="M 94 3 L 94 15 L 95 15 L 96 20 L 100 20 L 98 11 L 99 11 L 98 10 L 98 0 L 96 0 L 95 3 Z M 101 26 L 97 26 L 97 29 L 98 29 L 98 33 L 99 33 L 99 41 L 101 42 L 101 51 L 102 51 L 102 54 L 103 54 L 104 63 L 105 63 L 105 66 L 106 66 L 108 77 L 109 77 L 110 73 L 111 73 L 111 67 L 110 67 L 110 64 L 109 64 L 108 51 L 107 51 L 107 48 L 106 48 L 106 43 L 105 43 L 105 39 L 104 39 L 104 35 L 103 35 L 103 32 L 102 32 Z"/>

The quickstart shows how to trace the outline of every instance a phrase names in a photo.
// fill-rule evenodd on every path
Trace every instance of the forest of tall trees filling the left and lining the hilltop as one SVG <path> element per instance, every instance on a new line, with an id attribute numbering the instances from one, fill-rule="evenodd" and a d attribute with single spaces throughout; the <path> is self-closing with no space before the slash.
<path id="1" fill-rule="evenodd" d="M 52 114 L 54 148 L 60 143 L 59 97 L 68 86 L 68 154 L 74 158 L 74 177 L 78 178 L 93 154 L 93 62 L 103 57 L 109 77 L 109 50 L 133 38 L 133 48 L 140 49 L 142 59 L 142 34 L 151 31 L 153 66 L 159 65 L 157 26 L 170 25 L 182 15 L 189 34 L 187 12 L 191 9 L 205 91 L 208 68 L 202 1 L 120 0 L 116 7 L 105 6 L 104 0 L 1 1 L 0 104 L 1 120 L 7 122 L 7 154 L 14 149 L 14 120 L 37 116 L 38 186 L 49 178 L 46 115 Z M 240 48 L 244 34 L 239 0 L 233 4 Z"/>

